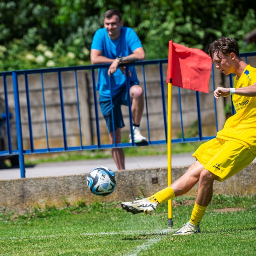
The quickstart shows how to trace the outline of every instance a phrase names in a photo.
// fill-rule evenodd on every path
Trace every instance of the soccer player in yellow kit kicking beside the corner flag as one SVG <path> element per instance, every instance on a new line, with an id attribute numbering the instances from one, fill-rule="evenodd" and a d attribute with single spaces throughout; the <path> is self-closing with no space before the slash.
<path id="1" fill-rule="evenodd" d="M 222 73 L 236 74 L 233 88 L 218 87 L 213 92 L 216 99 L 231 94 L 236 114 L 228 118 L 215 139 L 196 150 L 195 163 L 169 187 L 148 198 L 121 203 L 124 210 L 133 214 L 153 213 L 159 204 L 185 194 L 199 181 L 190 220 L 174 235 L 199 233 L 200 221 L 212 200 L 213 181 L 230 178 L 256 157 L 256 68 L 240 58 L 238 44 L 230 37 L 211 43 L 208 53 Z"/>

